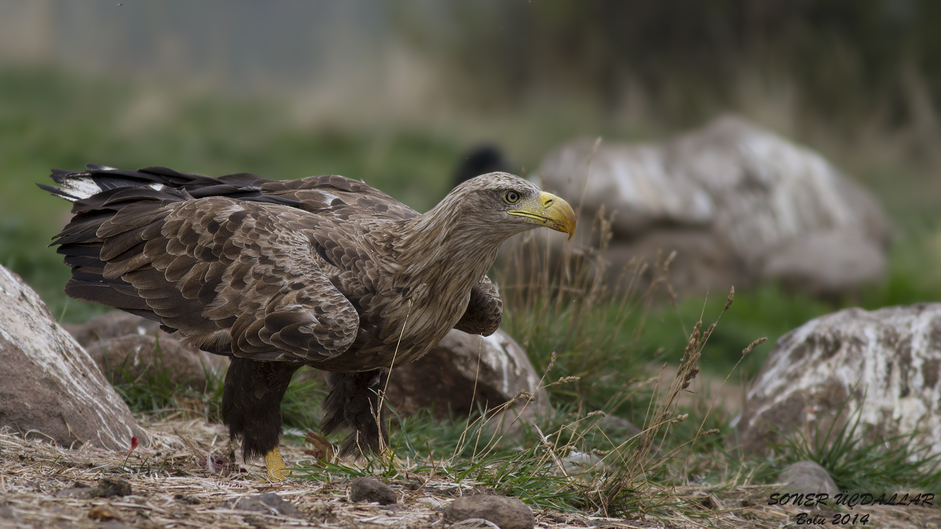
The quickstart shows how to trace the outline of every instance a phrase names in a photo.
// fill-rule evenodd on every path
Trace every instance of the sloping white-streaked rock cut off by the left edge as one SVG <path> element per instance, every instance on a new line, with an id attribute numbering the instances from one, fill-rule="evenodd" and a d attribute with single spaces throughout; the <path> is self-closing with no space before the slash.
<path id="1" fill-rule="evenodd" d="M 0 426 L 63 446 L 127 450 L 147 432 L 40 297 L 0 266 Z"/>

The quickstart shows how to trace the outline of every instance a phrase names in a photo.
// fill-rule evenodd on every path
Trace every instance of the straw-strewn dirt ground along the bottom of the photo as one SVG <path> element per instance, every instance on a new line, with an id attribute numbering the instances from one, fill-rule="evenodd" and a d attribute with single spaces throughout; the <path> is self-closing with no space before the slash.
<path id="1" fill-rule="evenodd" d="M 474 484 L 449 483 L 427 475 L 389 480 L 396 505 L 355 504 L 348 481 L 323 482 L 291 478 L 283 483 L 263 481 L 263 467 L 239 457 L 231 461 L 228 436 L 221 425 L 201 420 L 146 425 L 152 443 L 130 455 L 83 447 L 70 450 L 40 440 L 24 441 L 0 432 L 0 528 L 40 527 L 445 527 L 441 511 Z M 302 447 L 282 446 L 289 466 L 309 459 Z M 132 471 L 132 472 L 129 472 Z M 131 493 L 88 498 L 103 477 L 120 478 Z M 380 478 L 381 479 L 381 478 Z M 693 528 L 796 526 L 796 509 L 763 505 L 769 487 L 677 489 L 682 501 L 704 506 L 704 516 L 691 519 L 614 520 L 535 510 L 535 526 L 564 528 Z M 299 514 L 234 510 L 233 499 L 274 492 L 295 505 Z M 869 527 L 925 528 L 941 525 L 941 511 L 926 507 L 856 507 L 869 513 Z M 97 516 L 93 520 L 89 515 Z M 827 522 L 829 524 L 829 521 Z M 461 526 L 470 526 L 463 525 Z M 478 525 L 479 526 L 479 525 Z"/>

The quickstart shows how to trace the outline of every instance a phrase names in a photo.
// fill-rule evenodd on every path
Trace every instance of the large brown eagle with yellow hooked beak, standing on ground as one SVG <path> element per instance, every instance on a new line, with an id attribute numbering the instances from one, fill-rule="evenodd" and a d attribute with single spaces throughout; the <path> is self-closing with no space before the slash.
<path id="1" fill-rule="evenodd" d="M 224 421 L 245 457 L 264 457 L 269 479 L 287 473 L 280 401 L 298 368 L 331 372 L 321 428 L 352 431 L 340 454 L 381 451 L 378 393 L 391 367 L 450 329 L 500 327 L 485 274 L 506 238 L 575 230 L 565 200 L 502 172 L 458 185 L 424 215 L 342 176 L 89 165 L 52 179 L 61 187 L 40 187 L 72 201 L 53 243 L 72 266 L 66 293 L 231 357 Z"/>

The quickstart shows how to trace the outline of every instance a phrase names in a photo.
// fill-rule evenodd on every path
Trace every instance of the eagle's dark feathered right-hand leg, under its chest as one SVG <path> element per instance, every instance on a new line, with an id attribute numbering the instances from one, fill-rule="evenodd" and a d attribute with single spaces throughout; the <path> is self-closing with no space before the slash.
<path id="1" fill-rule="evenodd" d="M 324 400 L 320 429 L 325 435 L 341 427 L 353 430 L 340 447 L 341 456 L 367 450 L 379 453 L 389 446 L 386 407 L 380 406 L 378 395 L 388 377 L 388 369 L 330 374 L 330 394 Z"/>

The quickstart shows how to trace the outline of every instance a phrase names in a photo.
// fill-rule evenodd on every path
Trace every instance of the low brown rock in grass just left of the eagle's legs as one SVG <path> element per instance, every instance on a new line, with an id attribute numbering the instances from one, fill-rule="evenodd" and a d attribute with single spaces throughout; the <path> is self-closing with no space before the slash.
<path id="1" fill-rule="evenodd" d="M 159 346 L 159 353 L 158 353 Z M 199 355 L 183 348 L 172 338 L 132 334 L 88 345 L 88 355 L 108 379 L 114 382 L 167 379 L 194 390 L 206 387 L 206 372 Z"/>

